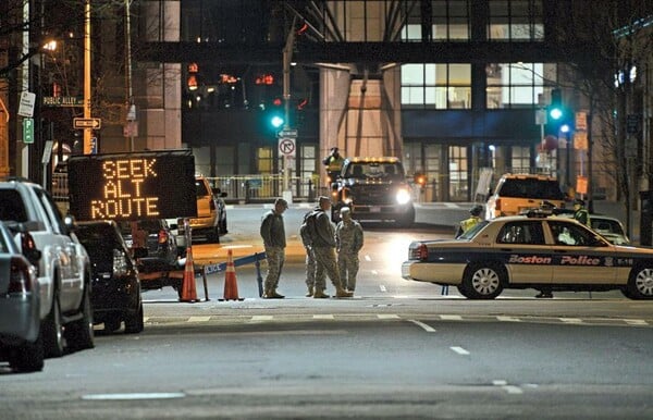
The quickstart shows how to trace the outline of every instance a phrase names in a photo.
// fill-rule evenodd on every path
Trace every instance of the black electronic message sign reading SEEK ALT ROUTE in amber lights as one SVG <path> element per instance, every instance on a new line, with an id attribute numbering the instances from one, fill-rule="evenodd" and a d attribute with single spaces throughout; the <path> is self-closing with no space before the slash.
<path id="1" fill-rule="evenodd" d="M 67 169 L 70 210 L 79 221 L 197 217 L 190 150 L 74 156 Z"/>

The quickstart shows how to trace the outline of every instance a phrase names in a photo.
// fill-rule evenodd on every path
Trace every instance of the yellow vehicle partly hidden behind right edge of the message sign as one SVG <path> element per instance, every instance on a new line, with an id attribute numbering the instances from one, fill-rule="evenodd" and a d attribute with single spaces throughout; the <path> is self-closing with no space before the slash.
<path id="1" fill-rule="evenodd" d="M 226 207 L 220 188 L 211 187 L 209 180 L 198 175 L 195 177 L 195 189 L 197 196 L 197 218 L 188 220 L 193 238 L 205 237 L 209 243 L 220 243 L 220 236 L 227 233 Z M 184 236 L 184 220 L 180 219 L 178 234 Z"/>

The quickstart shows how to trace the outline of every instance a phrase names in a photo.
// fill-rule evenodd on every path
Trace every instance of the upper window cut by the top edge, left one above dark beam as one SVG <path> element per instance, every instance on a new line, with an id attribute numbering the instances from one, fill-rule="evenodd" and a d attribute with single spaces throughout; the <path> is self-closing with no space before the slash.
<path id="1" fill-rule="evenodd" d="M 409 9 L 402 30 L 405 41 L 469 40 L 470 0 L 422 1 Z"/>

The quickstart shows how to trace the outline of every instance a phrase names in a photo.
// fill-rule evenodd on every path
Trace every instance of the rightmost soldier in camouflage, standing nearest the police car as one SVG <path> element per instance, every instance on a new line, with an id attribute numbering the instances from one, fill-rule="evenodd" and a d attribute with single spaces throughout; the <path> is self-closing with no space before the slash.
<path id="1" fill-rule="evenodd" d="M 335 248 L 343 287 L 354 293 L 358 273 L 358 252 L 362 248 L 362 227 L 360 223 L 352 219 L 352 211 L 348 207 L 341 209 L 341 221 L 335 227 Z"/>

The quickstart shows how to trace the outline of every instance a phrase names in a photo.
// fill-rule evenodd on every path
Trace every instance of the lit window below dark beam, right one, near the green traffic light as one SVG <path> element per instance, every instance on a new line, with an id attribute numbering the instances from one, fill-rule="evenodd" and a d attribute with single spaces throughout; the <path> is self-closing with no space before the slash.
<path id="1" fill-rule="evenodd" d="M 545 84 L 555 82 L 555 64 L 492 63 L 485 66 L 488 109 L 532 108 Z"/>

